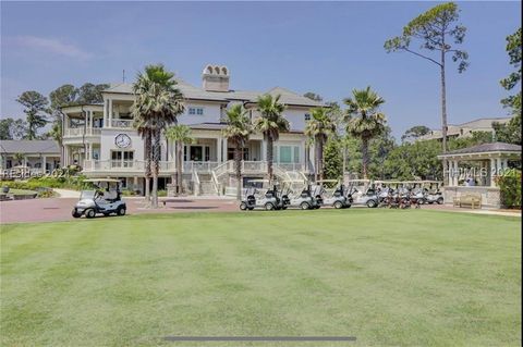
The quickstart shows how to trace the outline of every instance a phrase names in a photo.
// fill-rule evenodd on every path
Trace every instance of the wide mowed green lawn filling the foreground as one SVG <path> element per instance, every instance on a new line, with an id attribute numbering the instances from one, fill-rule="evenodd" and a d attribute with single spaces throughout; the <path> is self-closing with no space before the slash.
<path id="1" fill-rule="evenodd" d="M 2 346 L 519 346 L 519 219 L 376 209 L 2 226 Z"/>

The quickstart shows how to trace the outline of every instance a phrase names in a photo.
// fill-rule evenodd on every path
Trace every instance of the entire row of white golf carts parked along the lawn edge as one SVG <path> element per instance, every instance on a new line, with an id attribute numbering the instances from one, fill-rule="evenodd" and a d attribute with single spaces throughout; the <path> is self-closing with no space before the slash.
<path id="1" fill-rule="evenodd" d="M 242 211 L 319 209 L 323 206 L 345 209 L 351 206 L 368 208 L 419 208 L 424 203 L 443 203 L 437 181 L 369 181 L 351 179 L 343 184 L 336 179 L 283 181 L 270 184 L 267 179 L 252 179 L 244 189 L 240 203 Z"/>

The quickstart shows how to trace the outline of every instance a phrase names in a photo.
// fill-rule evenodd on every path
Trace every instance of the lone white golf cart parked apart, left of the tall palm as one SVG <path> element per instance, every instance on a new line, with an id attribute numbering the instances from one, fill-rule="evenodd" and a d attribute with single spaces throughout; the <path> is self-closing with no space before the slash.
<path id="1" fill-rule="evenodd" d="M 95 189 L 82 190 L 80 201 L 73 208 L 74 218 L 85 215 L 88 219 L 96 214 L 124 215 L 126 211 L 125 202 L 120 194 L 120 181 L 112 178 L 90 178 L 84 179 L 92 183 Z"/>

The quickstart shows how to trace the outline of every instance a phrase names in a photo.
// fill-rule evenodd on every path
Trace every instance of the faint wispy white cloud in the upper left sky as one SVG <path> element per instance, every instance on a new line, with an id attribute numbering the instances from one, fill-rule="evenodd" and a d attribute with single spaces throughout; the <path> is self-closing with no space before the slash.
<path id="1" fill-rule="evenodd" d="M 38 36 L 16 36 L 12 38 L 15 45 L 27 47 L 35 50 L 42 50 L 50 53 L 64 55 L 75 59 L 89 59 L 93 58 L 92 53 L 85 52 L 78 47 L 62 42 L 56 38 L 46 38 Z"/>

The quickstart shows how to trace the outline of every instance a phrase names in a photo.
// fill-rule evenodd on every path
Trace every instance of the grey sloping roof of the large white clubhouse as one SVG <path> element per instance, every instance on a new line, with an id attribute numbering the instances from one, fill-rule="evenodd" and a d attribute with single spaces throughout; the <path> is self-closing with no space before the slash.
<path id="1" fill-rule="evenodd" d="M 254 91 L 254 90 L 229 90 L 229 91 L 207 91 L 202 88 L 197 88 L 182 79 L 177 79 L 178 88 L 183 94 L 184 98 L 191 100 L 209 100 L 209 101 L 223 101 L 229 102 L 231 100 L 240 100 L 244 102 L 256 102 L 256 99 L 264 95 L 270 94 L 272 96 L 281 95 L 280 101 L 285 104 L 303 106 L 303 107 L 324 107 L 323 102 L 318 102 L 301 96 L 294 91 L 282 87 L 275 87 L 268 91 Z M 133 85 L 129 83 L 121 83 L 112 85 L 104 92 L 115 94 L 133 94 Z"/>

